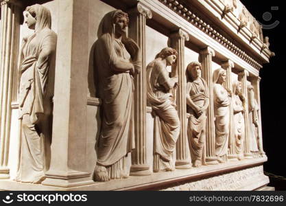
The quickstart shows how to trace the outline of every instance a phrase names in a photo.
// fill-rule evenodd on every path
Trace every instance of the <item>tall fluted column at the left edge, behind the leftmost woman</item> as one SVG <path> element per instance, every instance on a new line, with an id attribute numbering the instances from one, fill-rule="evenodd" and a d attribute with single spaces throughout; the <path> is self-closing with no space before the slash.
<path id="1" fill-rule="evenodd" d="M 1 2 L 1 47 L 0 47 L 0 179 L 8 179 L 8 155 L 11 125 L 11 102 L 13 73 L 19 51 L 19 31 L 21 14 L 19 2 Z"/>

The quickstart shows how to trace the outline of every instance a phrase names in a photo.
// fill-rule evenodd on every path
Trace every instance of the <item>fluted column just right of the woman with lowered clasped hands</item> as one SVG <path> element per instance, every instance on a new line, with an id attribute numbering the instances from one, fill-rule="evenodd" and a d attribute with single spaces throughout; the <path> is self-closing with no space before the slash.
<path id="1" fill-rule="evenodd" d="M 202 78 L 208 84 L 209 102 L 206 111 L 206 163 L 217 164 L 215 157 L 215 114 L 213 107 L 213 69 L 212 59 L 215 51 L 211 47 L 206 47 L 200 51 L 199 61 L 202 64 Z"/>

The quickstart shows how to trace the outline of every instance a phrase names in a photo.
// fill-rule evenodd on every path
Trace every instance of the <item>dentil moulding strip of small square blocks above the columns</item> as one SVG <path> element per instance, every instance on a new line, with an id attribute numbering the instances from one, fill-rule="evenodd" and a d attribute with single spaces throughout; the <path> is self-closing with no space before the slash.
<path id="1" fill-rule="evenodd" d="M 182 16 L 186 21 L 189 21 L 195 27 L 198 27 L 202 32 L 213 38 L 215 41 L 226 47 L 226 49 L 230 50 L 239 58 L 248 62 L 249 65 L 252 65 L 255 69 L 261 69 L 262 65 L 259 64 L 256 60 L 248 56 L 246 52 L 243 52 L 242 49 L 237 47 L 234 43 L 232 43 L 228 38 L 219 34 L 217 30 L 215 30 L 210 24 L 206 23 L 203 19 L 200 18 L 197 14 L 195 14 L 191 8 L 187 8 L 187 6 L 182 5 L 179 1 L 174 0 L 158 0 L 160 3 L 166 5 L 169 9 L 176 12 L 178 15 Z"/>

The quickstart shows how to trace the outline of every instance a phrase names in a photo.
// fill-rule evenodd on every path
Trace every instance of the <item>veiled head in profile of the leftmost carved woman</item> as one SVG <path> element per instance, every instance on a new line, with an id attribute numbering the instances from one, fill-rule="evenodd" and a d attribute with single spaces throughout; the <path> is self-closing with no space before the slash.
<path id="1" fill-rule="evenodd" d="M 24 12 L 25 23 L 29 29 L 43 30 L 45 27 L 51 28 L 51 13 L 40 4 L 28 6 Z"/>

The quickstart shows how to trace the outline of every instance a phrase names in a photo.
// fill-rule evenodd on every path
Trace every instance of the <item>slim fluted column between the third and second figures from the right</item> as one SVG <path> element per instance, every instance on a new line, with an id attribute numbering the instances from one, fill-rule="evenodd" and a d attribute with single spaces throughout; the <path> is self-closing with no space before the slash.
<path id="1" fill-rule="evenodd" d="M 222 68 L 226 69 L 226 89 L 232 91 L 233 83 L 231 81 L 231 69 L 235 67 L 233 61 L 227 60 L 222 63 Z M 238 160 L 235 152 L 235 134 L 234 134 L 234 121 L 233 121 L 233 95 L 230 97 L 230 121 L 229 121 L 229 136 L 228 136 L 228 159 Z"/>

